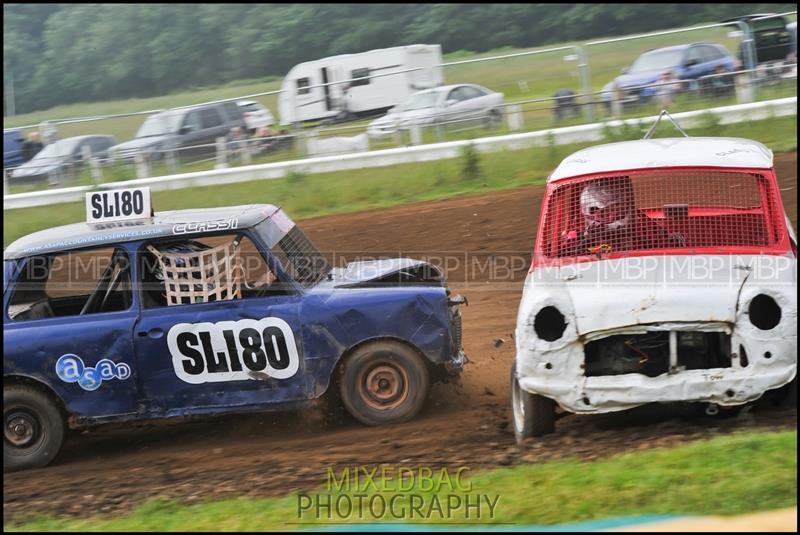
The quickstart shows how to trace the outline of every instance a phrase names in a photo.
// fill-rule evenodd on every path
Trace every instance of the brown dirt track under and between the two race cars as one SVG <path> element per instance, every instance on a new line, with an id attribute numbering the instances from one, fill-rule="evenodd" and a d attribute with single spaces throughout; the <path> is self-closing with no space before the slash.
<path id="1" fill-rule="evenodd" d="M 796 154 L 779 155 L 777 168 L 796 228 Z M 555 434 L 517 447 L 508 422 L 511 333 L 541 193 L 541 186 L 532 186 L 302 222 L 321 249 L 348 259 L 398 253 L 447 259 L 451 287 L 470 301 L 462 311 L 471 362 L 461 385 L 434 389 L 418 419 L 383 428 L 326 428 L 315 411 L 305 411 L 84 432 L 68 439 L 54 465 L 6 474 L 6 522 L 30 513 L 123 512 L 156 495 L 191 503 L 285 494 L 324 483 L 333 465 L 479 469 L 563 456 L 591 459 L 753 427 L 796 429 L 796 409 L 745 411 L 726 420 L 648 409 L 567 416 Z"/>

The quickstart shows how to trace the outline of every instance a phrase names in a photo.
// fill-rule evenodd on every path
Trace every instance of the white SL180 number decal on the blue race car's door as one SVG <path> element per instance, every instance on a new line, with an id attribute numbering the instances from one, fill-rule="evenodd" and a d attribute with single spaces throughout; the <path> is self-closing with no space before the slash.
<path id="1" fill-rule="evenodd" d="M 300 366 L 292 328 L 280 318 L 179 323 L 167 346 L 175 374 L 191 384 L 288 379 Z"/>

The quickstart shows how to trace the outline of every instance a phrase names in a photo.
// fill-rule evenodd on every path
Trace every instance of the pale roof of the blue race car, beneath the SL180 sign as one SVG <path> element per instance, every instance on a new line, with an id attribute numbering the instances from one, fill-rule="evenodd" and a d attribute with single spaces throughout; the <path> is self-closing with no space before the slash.
<path id="1" fill-rule="evenodd" d="M 28 234 L 3 251 L 3 260 L 84 247 L 109 246 L 122 242 L 161 237 L 198 237 L 209 232 L 177 234 L 176 225 L 236 219 L 235 229 L 250 228 L 272 217 L 280 208 L 271 204 L 227 206 L 156 212 L 152 218 L 117 224 L 73 223 Z"/>

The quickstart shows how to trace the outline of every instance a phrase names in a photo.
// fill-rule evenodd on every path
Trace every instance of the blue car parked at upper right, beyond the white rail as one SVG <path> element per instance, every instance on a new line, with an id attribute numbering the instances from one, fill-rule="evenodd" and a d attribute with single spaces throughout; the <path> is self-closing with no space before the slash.
<path id="1" fill-rule="evenodd" d="M 622 74 L 603 87 L 603 102 L 607 108 L 620 91 L 623 104 L 647 102 L 658 92 L 659 82 L 665 72 L 677 80 L 693 81 L 714 74 L 718 67 L 725 72 L 735 71 L 736 58 L 727 49 L 714 43 L 692 43 L 650 50 L 639 56 Z M 618 88 L 618 89 L 617 89 Z"/>

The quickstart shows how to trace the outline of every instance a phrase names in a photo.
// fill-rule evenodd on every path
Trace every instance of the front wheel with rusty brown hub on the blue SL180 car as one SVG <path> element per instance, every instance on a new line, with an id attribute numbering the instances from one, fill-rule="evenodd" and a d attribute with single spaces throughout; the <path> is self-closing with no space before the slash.
<path id="1" fill-rule="evenodd" d="M 410 420 L 430 391 L 423 357 L 399 342 L 381 341 L 356 349 L 344 361 L 340 395 L 347 412 L 366 425 Z"/>

